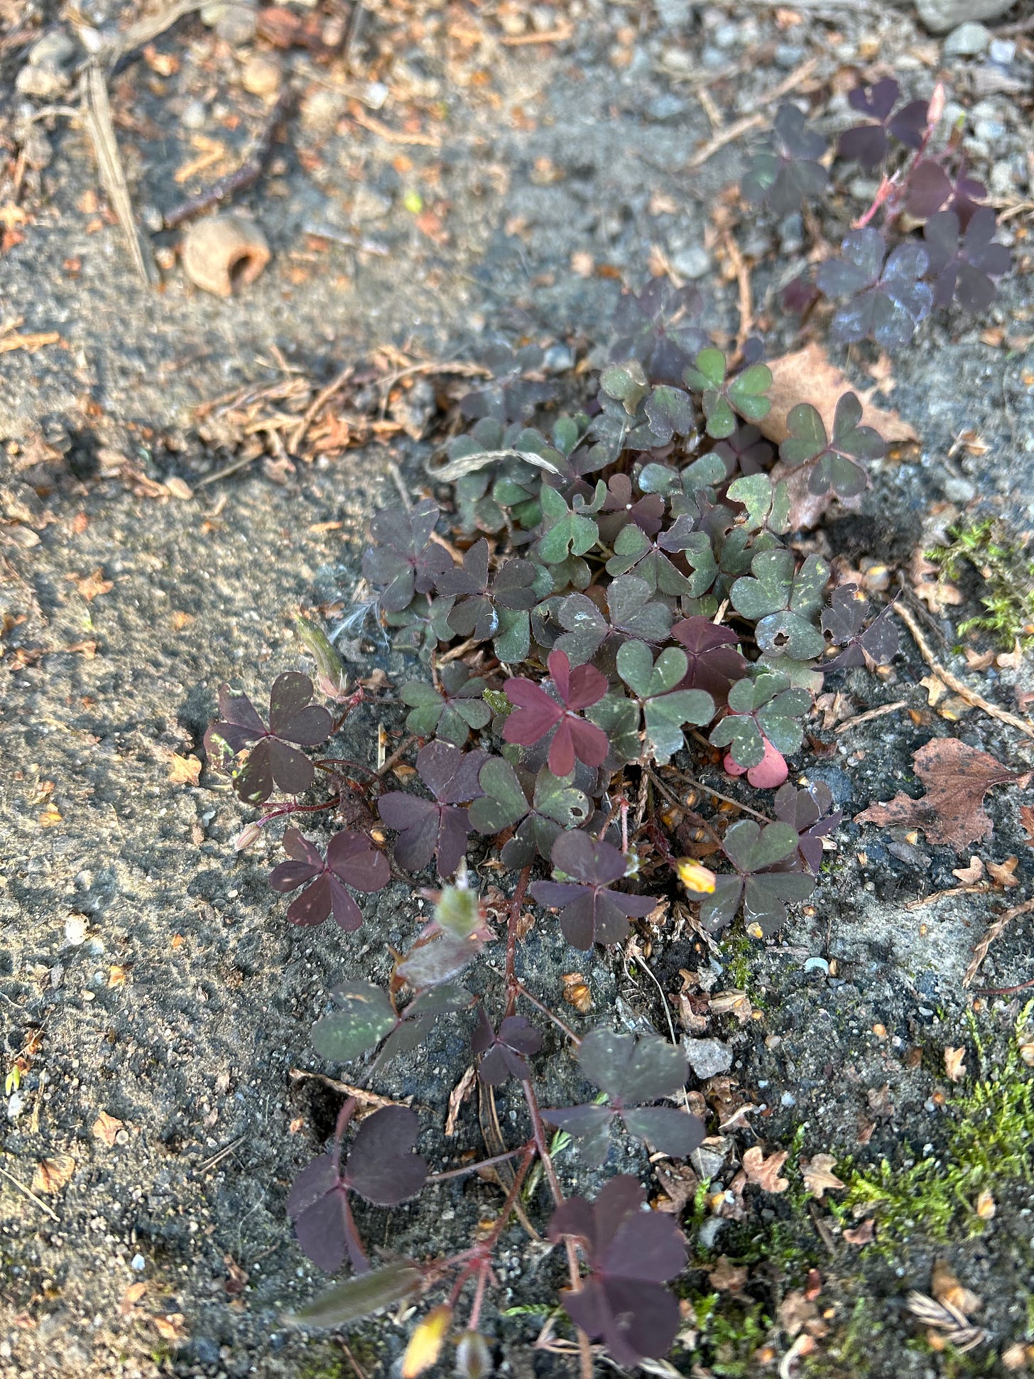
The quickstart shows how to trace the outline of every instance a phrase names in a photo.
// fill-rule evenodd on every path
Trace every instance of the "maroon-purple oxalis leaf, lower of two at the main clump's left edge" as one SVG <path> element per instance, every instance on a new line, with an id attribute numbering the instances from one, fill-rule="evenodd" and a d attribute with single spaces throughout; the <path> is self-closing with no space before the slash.
<path id="1" fill-rule="evenodd" d="M 382 891 L 392 878 L 387 858 L 378 852 L 365 833 L 335 833 L 327 844 L 324 860 L 318 848 L 303 838 L 298 829 L 288 829 L 284 833 L 284 852 L 291 860 L 273 867 L 269 884 L 274 891 L 305 887 L 287 909 L 291 924 L 314 927 L 334 914 L 342 929 L 357 929 L 363 923 L 363 912 L 346 885 L 369 894 Z"/>

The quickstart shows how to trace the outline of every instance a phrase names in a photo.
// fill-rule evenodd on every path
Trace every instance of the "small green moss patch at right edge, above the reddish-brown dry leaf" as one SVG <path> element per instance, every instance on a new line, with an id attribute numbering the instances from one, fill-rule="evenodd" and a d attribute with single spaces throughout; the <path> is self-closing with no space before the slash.
<path id="1" fill-rule="evenodd" d="M 939 564 L 947 579 L 957 579 L 968 564 L 986 586 L 980 597 L 986 611 L 961 622 L 960 636 L 990 632 L 1009 650 L 1016 641 L 1024 651 L 1034 647 L 1034 560 L 1028 547 L 1005 542 L 993 519 L 954 527 L 949 535 L 951 543 L 928 550 L 926 558 Z"/>

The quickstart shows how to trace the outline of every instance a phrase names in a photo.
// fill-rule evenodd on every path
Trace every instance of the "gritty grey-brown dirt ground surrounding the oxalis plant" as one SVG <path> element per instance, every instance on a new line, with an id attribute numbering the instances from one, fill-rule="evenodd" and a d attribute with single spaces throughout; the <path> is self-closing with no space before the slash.
<path id="1" fill-rule="evenodd" d="M 135 17 L 97 0 L 81 18 L 103 36 Z M 1008 21 L 1028 17 L 1022 0 Z M 386 978 L 389 946 L 419 923 L 416 898 L 393 883 L 357 935 L 290 929 L 266 884 L 274 841 L 234 854 L 245 814 L 225 778 L 205 765 L 176 782 L 174 757 L 203 756 L 222 681 L 258 698 L 280 670 L 305 669 L 292 610 L 347 607 L 368 519 L 397 498 L 396 473 L 414 491 L 426 484 L 436 403 L 452 375 L 432 375 L 433 386 L 411 375 L 416 385 L 392 401 L 378 392 L 386 372 L 476 361 L 495 335 L 534 339 L 558 371 L 591 361 L 622 284 L 641 284 L 651 265 L 703 274 L 710 320 L 735 332 L 738 287 L 709 218 L 744 141 L 691 163 L 714 117 L 732 125 L 791 77 L 831 131 L 845 102 L 829 99 L 830 83 L 842 92 L 847 69 L 895 70 L 914 95 L 940 74 L 966 113 L 972 165 L 1008 217 L 1020 269 L 987 319 L 928 324 L 889 376 L 867 375 L 864 356 L 847 361 L 921 444 L 877 466 L 863 510 L 841 514 L 823 539 L 856 564 L 895 568 L 951 520 L 994 516 L 1012 542 L 1027 539 L 1031 28 L 1002 65 L 944 55 L 904 4 L 371 3 L 347 63 L 321 63 L 262 37 L 230 44 L 186 15 L 110 83 L 145 225 L 247 152 L 267 112 L 241 85 L 256 54 L 273 55 L 298 91 L 267 174 L 236 203 L 273 256 L 229 301 L 187 284 L 171 254 L 178 236 L 163 230 L 146 234 L 160 285 L 143 287 L 81 121 L 30 119 L 74 101 L 61 85 L 45 99 L 12 87 L 26 43 L 51 28 L 73 32 L 55 4 L 0 0 L 0 141 L 11 153 L 0 177 L 0 1027 L 6 1071 L 23 1067 L 8 1078 L 1 1131 L 0 1375 L 393 1373 L 411 1320 L 356 1328 L 347 1350 L 284 1325 L 285 1310 L 325 1282 L 292 1238 L 285 1200 L 339 1105 L 318 1080 L 292 1076 L 342 1076 L 309 1047 L 309 1026 L 335 980 Z M 247 84 L 258 84 L 254 69 Z M 779 353 L 794 334 L 771 290 L 798 266 L 800 229 L 744 218 L 735 233 Z M 18 334 L 28 346 L 33 335 L 57 339 L 4 348 Z M 328 443 L 294 462 L 277 399 L 314 397 L 349 364 L 369 370 L 364 407 L 353 403 L 365 444 L 335 455 Z M 227 399 L 237 401 L 221 412 Z M 954 622 L 979 611 L 979 581 L 961 590 Z M 924 622 L 936 656 L 1015 712 L 1030 666 L 972 670 L 951 621 Z M 738 990 L 747 1003 L 746 1018 L 713 1014 L 706 1030 L 729 1060 L 725 1085 L 703 1088 L 711 1109 L 757 1109 L 713 1146 L 713 1189 L 728 1187 L 729 1164 L 753 1145 L 791 1151 L 789 1190 L 749 1197 L 743 1219 L 703 1198 L 684 1207 L 685 1328 L 666 1373 L 1034 1369 L 1034 1349 L 1024 1353 L 1034 1106 L 1017 1052 L 1031 1047 L 1023 1003 L 1034 989 L 976 994 L 1034 976 L 1030 913 L 990 949 L 975 987 L 962 986 L 989 924 L 1034 894 L 1019 812 L 1031 793 L 991 792 L 994 834 L 973 848 L 986 862 L 1019 859 L 1019 885 L 1005 894 L 958 892 L 953 869 L 968 856 L 922 834 L 849 822 L 915 785 L 913 753 L 931 735 L 960 736 L 1016 772 L 1034 767 L 1034 741 L 965 705 L 946 717 L 904 634 L 902 647 L 886 678 L 852 670 L 829 688 L 852 716 L 904 707 L 842 731 L 816 714 L 819 750 L 794 763 L 830 786 L 848 821 L 807 913 L 767 945 L 733 931 L 709 953 L 663 929 L 652 936 L 666 993 L 688 969 L 702 990 Z M 346 651 L 356 676 L 403 666 L 367 645 Z M 401 724 L 397 709 L 381 717 Z M 352 729 L 349 750 L 363 760 L 374 758 L 376 721 L 367 707 Z M 711 783 L 739 789 L 720 774 Z M 539 925 L 524 963 L 556 1000 L 572 952 Z M 597 1018 L 666 1027 L 634 963 L 597 949 L 578 965 Z M 443 1134 L 469 1052 L 456 1022 L 434 1038 L 393 1065 L 381 1089 L 412 1098 L 420 1149 L 445 1168 L 481 1151 L 481 1135 L 472 1103 L 456 1135 Z M 965 1051 L 958 1081 L 946 1048 Z M 560 1099 L 580 1084 L 553 1052 L 547 1095 Z M 516 1118 L 502 1096 L 503 1125 L 510 1110 Z M 847 1186 L 816 1200 L 798 1161 L 822 1153 Z M 616 1164 L 663 1196 L 645 1156 Z M 560 1167 L 567 1186 L 594 1186 L 576 1161 Z M 385 1248 L 430 1252 L 467 1238 L 498 1201 L 489 1185 L 459 1179 L 368 1220 Z M 845 1238 L 864 1237 L 870 1219 L 871 1242 Z M 747 1270 L 735 1287 L 716 1282 L 720 1256 Z M 939 1259 L 983 1303 L 972 1320 L 986 1335 L 965 1353 L 906 1310 L 911 1289 L 931 1292 Z M 485 1320 L 499 1372 L 567 1373 L 567 1357 L 532 1345 L 557 1260 L 513 1227 L 499 1276 Z"/>

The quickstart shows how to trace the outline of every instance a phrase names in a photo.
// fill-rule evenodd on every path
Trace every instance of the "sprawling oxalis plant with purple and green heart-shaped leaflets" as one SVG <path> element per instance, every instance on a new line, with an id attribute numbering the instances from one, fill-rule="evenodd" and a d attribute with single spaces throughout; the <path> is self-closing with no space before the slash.
<path id="1" fill-rule="evenodd" d="M 943 97 L 900 110 L 896 102 L 892 81 L 859 88 L 851 103 L 863 123 L 840 142 L 867 168 L 892 159 L 842 258 L 818 272 L 819 292 L 848 298 L 831 325 L 844 341 L 903 343 L 935 302 L 986 305 L 1008 266 L 990 243 L 993 212 L 976 205 L 983 189 L 958 165 L 946 171 L 954 145 L 939 160 L 928 152 Z M 896 163 L 895 141 L 911 150 Z M 744 194 L 784 215 L 826 186 L 824 141 L 786 106 L 769 145 L 753 159 Z M 925 219 L 922 241 L 903 229 L 906 211 Z M 877 214 L 882 232 L 870 225 Z M 902 241 L 886 258 L 891 233 Z M 407 1375 L 429 1368 L 449 1335 L 459 1375 L 492 1371 L 480 1329 L 485 1296 L 507 1225 L 514 1215 L 528 1222 L 535 1175 L 551 1197 L 539 1225 L 565 1256 L 560 1302 L 583 1375 L 593 1342 L 625 1365 L 667 1353 L 680 1311 L 665 1284 L 687 1262 L 676 1220 L 648 1211 L 625 1174 L 594 1201 L 565 1196 L 554 1157 L 562 1145 L 600 1168 L 614 1136 L 691 1154 L 706 1129 L 688 1111 L 687 1059 L 674 1034 L 633 1037 L 605 1023 L 576 1031 L 529 990 L 525 907 L 582 952 L 618 949 L 673 895 L 682 905 L 688 895 L 707 935 L 738 917 L 754 938 L 775 934 L 787 906 L 811 896 L 823 838 L 840 822 L 824 786 L 789 781 L 813 694 L 826 673 L 873 669 L 898 650 L 889 608 L 870 607 L 853 585 L 833 582 L 823 558 L 787 545 L 787 488 L 769 473 L 776 451 L 757 426 L 772 383 L 761 345 L 731 359 L 699 325 L 698 308 L 695 290 L 660 281 L 626 295 L 612 363 L 579 385 L 582 408 L 558 411 L 534 348 L 503 352 L 492 379 L 460 404 L 469 430 L 434 472 L 445 506 L 426 496 L 374 519 L 363 558 L 374 596 L 339 630 L 365 630 L 415 656 L 418 673 L 397 687 L 408 735 L 392 757 L 375 768 L 328 749 L 364 691 L 349 690 L 331 640 L 305 618 L 298 630 L 316 685 L 280 674 L 265 717 L 223 687 L 205 736 L 210 760 L 261 811 L 239 845 L 290 821 L 285 860 L 269 877 L 292 896 L 288 923 L 314 928 L 332 917 L 354 931 L 357 896 L 393 874 L 415 885 L 433 870 L 441 883 L 422 891 L 432 917 L 393 954 L 386 986 L 349 980 L 328 993 L 312 1030 L 316 1052 L 335 1067 L 361 1065 L 349 1076 L 372 1095 L 387 1063 L 448 1019 L 469 1033 L 481 1084 L 491 1092 L 513 1081 L 524 1098 L 520 1143 L 433 1172 L 416 1151 L 415 1111 L 364 1114 L 376 1100 L 349 1096 L 330 1149 L 291 1190 L 301 1248 L 328 1273 L 349 1269 L 295 1320 L 347 1325 L 437 1299 L 409 1339 Z M 804 469 L 816 494 L 856 496 L 885 450 L 851 392 L 831 432 L 807 401 L 787 427 L 778 458 Z M 317 688 L 327 706 L 313 703 Z M 386 789 L 407 754 L 412 765 L 397 772 L 407 789 Z M 751 816 L 724 825 L 693 812 L 684 787 L 698 785 L 698 764 L 775 790 L 769 812 L 740 805 Z M 310 798 L 317 778 L 325 798 Z M 287 798 L 270 803 L 274 792 Z M 338 825 L 325 841 L 306 836 L 320 814 Z M 506 878 L 502 912 L 480 895 L 485 863 Z M 496 943 L 500 979 L 478 964 Z M 543 1105 L 547 1031 L 550 1056 L 557 1040 L 568 1045 L 598 1089 L 585 1105 Z M 411 1259 L 363 1238 L 357 1198 L 392 1208 L 429 1183 L 489 1171 L 502 1205 L 466 1248 Z"/>

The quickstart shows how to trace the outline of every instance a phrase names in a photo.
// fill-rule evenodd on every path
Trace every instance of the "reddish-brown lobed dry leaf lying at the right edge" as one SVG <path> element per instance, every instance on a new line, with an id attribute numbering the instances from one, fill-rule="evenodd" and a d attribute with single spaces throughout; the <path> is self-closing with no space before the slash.
<path id="1" fill-rule="evenodd" d="M 957 738 L 928 742 L 915 753 L 913 765 L 926 794 L 913 800 L 899 792 L 886 804 L 870 804 L 856 814 L 855 823 L 922 829 L 928 843 L 943 843 L 961 852 L 991 832 L 983 809 L 986 792 L 1017 779 L 1001 761 Z"/>

